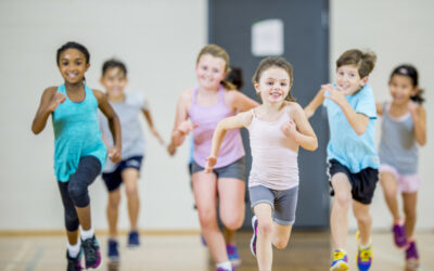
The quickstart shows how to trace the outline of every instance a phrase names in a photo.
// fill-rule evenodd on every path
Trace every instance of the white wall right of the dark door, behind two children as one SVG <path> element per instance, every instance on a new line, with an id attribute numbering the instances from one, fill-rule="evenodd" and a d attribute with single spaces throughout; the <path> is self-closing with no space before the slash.
<path id="1" fill-rule="evenodd" d="M 420 149 L 420 176 L 418 229 L 433 229 L 434 182 L 430 168 L 433 166 L 432 140 L 434 114 L 434 2 L 431 0 L 331 0 L 331 63 L 334 77 L 335 61 L 347 49 L 371 49 L 378 62 L 371 76 L 371 85 L 378 101 L 390 100 L 387 81 L 394 67 L 411 63 L 419 70 L 420 87 L 426 89 L 427 144 Z M 378 121 L 380 125 L 380 121 Z M 380 136 L 378 126 L 376 136 Z M 379 139 L 379 137 L 378 137 Z M 431 162 L 430 162 L 431 160 Z M 392 217 L 386 208 L 380 185 L 372 204 L 373 227 L 390 229 Z M 352 219 L 355 227 L 355 220 Z"/>

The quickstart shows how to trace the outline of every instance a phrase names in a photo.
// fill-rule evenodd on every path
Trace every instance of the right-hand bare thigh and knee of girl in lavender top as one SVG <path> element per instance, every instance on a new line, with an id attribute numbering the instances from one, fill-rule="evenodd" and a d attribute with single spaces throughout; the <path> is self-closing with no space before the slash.
<path id="1" fill-rule="evenodd" d="M 217 186 L 221 222 L 226 229 L 235 231 L 244 221 L 245 183 L 233 178 L 220 178 Z"/>

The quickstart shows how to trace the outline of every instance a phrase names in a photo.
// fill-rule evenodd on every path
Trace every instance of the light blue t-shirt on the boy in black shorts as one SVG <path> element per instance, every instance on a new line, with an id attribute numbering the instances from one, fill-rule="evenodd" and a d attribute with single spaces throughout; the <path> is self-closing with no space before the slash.
<path id="1" fill-rule="evenodd" d="M 327 91 L 326 95 L 330 95 Z M 341 107 L 332 100 L 326 99 L 323 105 L 330 127 L 330 141 L 327 146 L 327 159 L 336 159 L 353 173 L 365 168 L 379 168 L 379 156 L 375 150 L 376 108 L 372 89 L 365 85 L 357 93 L 346 95 L 345 100 L 357 113 L 369 117 L 367 130 L 358 136 L 346 119 Z"/>

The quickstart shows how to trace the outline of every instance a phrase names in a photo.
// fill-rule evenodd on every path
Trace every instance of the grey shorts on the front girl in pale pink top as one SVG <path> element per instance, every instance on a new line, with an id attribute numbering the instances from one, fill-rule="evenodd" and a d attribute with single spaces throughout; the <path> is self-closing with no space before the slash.
<path id="1" fill-rule="evenodd" d="M 282 225 L 292 225 L 295 222 L 298 185 L 289 190 L 272 190 L 264 185 L 248 188 L 252 210 L 257 204 L 267 203 L 273 210 L 273 221 Z"/>

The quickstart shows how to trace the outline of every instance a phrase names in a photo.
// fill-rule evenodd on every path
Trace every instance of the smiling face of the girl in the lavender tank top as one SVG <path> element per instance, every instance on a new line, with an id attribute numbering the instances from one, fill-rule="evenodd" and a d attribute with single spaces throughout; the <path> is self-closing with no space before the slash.
<path id="1" fill-rule="evenodd" d="M 226 62 L 221 57 L 204 54 L 196 64 L 196 78 L 204 89 L 218 89 L 226 76 Z"/>

